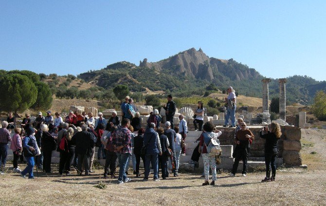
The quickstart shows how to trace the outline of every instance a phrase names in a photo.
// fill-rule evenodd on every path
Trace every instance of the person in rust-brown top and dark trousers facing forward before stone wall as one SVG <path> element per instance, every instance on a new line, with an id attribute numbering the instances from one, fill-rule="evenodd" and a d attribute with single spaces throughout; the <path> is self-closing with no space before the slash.
<path id="1" fill-rule="evenodd" d="M 241 130 L 236 132 L 235 144 L 237 150 L 235 150 L 235 162 L 233 164 L 232 172 L 229 176 L 235 176 L 236 170 L 238 169 L 239 161 L 243 161 L 242 176 L 247 174 L 247 159 L 250 151 L 250 140 L 254 140 L 254 134 L 246 129 L 247 125 L 245 122 L 240 123 Z"/>

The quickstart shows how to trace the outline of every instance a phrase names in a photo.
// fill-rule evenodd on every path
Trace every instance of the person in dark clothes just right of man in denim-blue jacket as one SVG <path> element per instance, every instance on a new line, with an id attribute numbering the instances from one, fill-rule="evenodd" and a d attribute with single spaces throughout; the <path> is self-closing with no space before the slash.
<path id="1" fill-rule="evenodd" d="M 162 179 L 165 180 L 169 176 L 169 172 L 167 171 L 167 163 L 169 161 L 169 156 L 166 155 L 166 150 L 168 150 L 169 147 L 169 141 L 167 140 L 167 137 L 163 134 L 164 129 L 162 127 L 159 127 L 157 129 L 157 133 L 159 134 L 162 148 L 162 155 L 159 156 L 159 166 L 161 165 Z"/>

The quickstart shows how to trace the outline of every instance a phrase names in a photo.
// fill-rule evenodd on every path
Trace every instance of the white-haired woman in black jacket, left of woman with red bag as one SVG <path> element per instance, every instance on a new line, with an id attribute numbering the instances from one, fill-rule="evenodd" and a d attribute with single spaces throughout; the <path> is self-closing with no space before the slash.
<path id="1" fill-rule="evenodd" d="M 49 127 L 47 125 L 42 125 L 42 140 L 41 140 L 41 150 L 43 150 L 43 171 L 46 173 L 53 172 L 51 170 L 51 157 L 52 150 L 56 149 L 56 142 L 54 137 L 49 133 Z"/>

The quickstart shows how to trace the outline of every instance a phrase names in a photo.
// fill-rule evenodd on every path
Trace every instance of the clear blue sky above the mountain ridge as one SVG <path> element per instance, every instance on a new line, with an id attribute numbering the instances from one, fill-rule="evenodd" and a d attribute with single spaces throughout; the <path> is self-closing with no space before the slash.
<path id="1" fill-rule="evenodd" d="M 192 47 L 326 80 L 325 0 L 0 0 L 0 69 L 77 75 Z"/>

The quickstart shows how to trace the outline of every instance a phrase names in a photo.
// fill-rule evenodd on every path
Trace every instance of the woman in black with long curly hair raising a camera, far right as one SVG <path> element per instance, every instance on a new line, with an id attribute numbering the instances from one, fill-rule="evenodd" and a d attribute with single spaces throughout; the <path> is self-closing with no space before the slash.
<path id="1" fill-rule="evenodd" d="M 282 132 L 279 124 L 272 122 L 271 131 L 268 127 L 264 127 L 260 131 L 260 137 L 266 139 L 265 141 L 265 164 L 266 164 L 266 177 L 262 182 L 275 181 L 276 174 L 276 156 L 278 154 L 277 141 L 281 137 Z M 272 177 L 271 177 L 272 168 Z"/>

